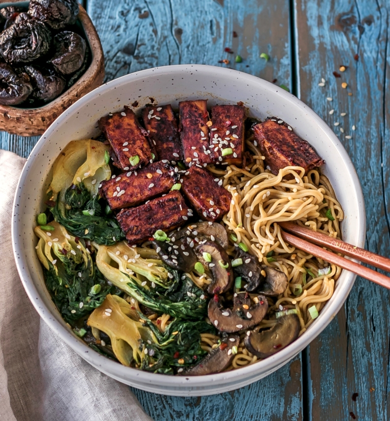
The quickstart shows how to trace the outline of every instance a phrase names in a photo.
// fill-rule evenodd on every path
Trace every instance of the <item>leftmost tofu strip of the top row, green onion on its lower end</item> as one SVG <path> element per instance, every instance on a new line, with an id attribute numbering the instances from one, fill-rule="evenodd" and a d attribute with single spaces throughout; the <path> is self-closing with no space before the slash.
<path id="1" fill-rule="evenodd" d="M 125 108 L 124 111 L 110 113 L 102 117 L 98 124 L 118 158 L 119 168 L 135 170 L 150 163 L 152 152 L 145 137 L 147 132 L 140 126 L 132 110 Z M 129 158 L 134 164 L 130 163 Z"/>

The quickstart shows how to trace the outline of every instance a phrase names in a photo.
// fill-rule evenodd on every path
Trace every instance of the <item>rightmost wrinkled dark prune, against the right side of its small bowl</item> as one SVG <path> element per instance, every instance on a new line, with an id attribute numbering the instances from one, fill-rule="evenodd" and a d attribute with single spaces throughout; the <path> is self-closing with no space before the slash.
<path id="1" fill-rule="evenodd" d="M 55 53 L 50 62 L 63 75 L 75 73 L 83 64 L 86 42 L 70 31 L 63 31 L 54 37 Z"/>

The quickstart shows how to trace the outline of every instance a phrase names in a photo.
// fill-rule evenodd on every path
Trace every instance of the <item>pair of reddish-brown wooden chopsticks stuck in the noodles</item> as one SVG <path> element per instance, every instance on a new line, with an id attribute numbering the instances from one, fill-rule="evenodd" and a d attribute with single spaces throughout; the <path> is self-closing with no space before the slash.
<path id="1" fill-rule="evenodd" d="M 352 262 L 338 254 L 331 251 L 324 250 L 322 247 L 327 247 L 336 253 L 344 254 L 345 256 L 353 257 L 363 263 L 367 263 L 375 268 L 382 269 L 390 272 L 390 259 L 380 256 L 379 254 L 371 253 L 364 248 L 359 248 L 348 244 L 342 240 L 337 240 L 328 237 L 324 234 L 317 233 L 303 228 L 291 222 L 278 222 L 282 229 L 281 235 L 284 241 L 288 244 L 299 248 L 302 251 L 312 254 L 313 256 L 320 257 L 326 262 L 333 263 L 340 268 L 351 271 L 359 276 L 362 276 L 369 281 L 375 282 L 378 285 L 390 289 L 390 278 L 372 269 L 361 266 L 358 263 Z M 295 235 L 293 235 L 295 234 Z M 304 239 L 308 240 L 305 241 Z M 319 247 L 315 244 L 322 247 Z"/>

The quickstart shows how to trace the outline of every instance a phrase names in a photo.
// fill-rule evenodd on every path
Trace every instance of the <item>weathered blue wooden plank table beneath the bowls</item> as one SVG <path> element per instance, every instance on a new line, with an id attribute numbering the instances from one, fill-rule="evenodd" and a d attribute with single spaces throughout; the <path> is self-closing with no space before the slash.
<path id="1" fill-rule="evenodd" d="M 102 40 L 107 80 L 202 63 L 288 86 L 344 144 L 365 194 L 366 248 L 390 254 L 390 1 L 87 0 L 84 6 Z M 27 156 L 36 141 L 2 133 L 0 147 Z M 387 290 L 358 278 L 344 308 L 301 355 L 235 392 L 202 398 L 133 392 L 156 421 L 387 421 L 389 299 Z"/>

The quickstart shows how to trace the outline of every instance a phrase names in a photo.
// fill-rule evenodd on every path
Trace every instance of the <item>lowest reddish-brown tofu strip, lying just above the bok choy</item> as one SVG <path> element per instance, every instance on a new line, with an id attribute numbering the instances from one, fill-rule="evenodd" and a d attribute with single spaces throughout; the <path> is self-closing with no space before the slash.
<path id="1" fill-rule="evenodd" d="M 178 190 L 136 208 L 122 209 L 116 218 L 129 244 L 141 243 L 157 230 L 171 231 L 192 215 Z"/>

